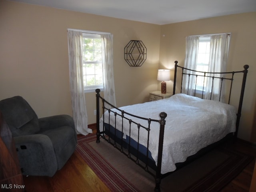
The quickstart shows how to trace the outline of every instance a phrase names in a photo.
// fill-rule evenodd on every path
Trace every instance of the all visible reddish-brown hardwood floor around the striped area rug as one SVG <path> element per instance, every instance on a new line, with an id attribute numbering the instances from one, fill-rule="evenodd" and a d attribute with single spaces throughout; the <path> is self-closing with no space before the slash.
<path id="1" fill-rule="evenodd" d="M 234 150 L 256 157 L 256 146 L 252 146 L 248 142 L 238 140 L 233 147 Z M 249 192 L 254 164 L 255 161 L 248 164 L 221 192 Z M 52 178 L 24 176 L 23 179 L 26 192 L 110 192 L 77 152 Z"/>

